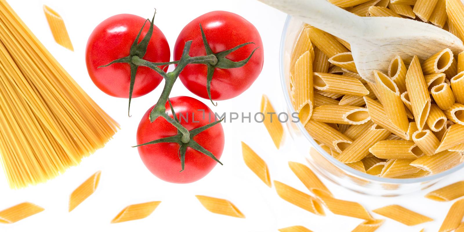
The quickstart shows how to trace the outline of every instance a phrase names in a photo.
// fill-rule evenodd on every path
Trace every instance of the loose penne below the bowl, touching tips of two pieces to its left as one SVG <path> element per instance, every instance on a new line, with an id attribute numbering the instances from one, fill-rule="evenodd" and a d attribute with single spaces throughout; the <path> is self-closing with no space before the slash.
<path id="1" fill-rule="evenodd" d="M 373 220 L 370 213 L 357 202 L 339 200 L 329 196 L 318 196 L 322 204 L 326 206 L 330 212 L 337 215 L 348 216 L 365 220 Z"/>

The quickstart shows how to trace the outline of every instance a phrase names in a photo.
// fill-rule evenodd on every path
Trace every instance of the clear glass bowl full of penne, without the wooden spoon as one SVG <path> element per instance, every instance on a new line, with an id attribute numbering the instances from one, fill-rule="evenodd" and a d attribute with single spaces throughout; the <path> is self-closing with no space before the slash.
<path id="1" fill-rule="evenodd" d="M 445 0 L 415 2 L 371 0 L 344 9 L 416 19 L 464 38 L 464 21 L 451 20 L 464 19 L 460 1 L 451 1 L 453 10 Z M 354 191 L 394 196 L 464 167 L 464 53 L 445 47 L 426 59 L 396 56 L 388 71 L 373 70 L 374 80 L 365 80 L 350 44 L 323 30 L 288 16 L 280 51 L 286 107 L 300 118 L 287 127 L 311 168 Z"/>

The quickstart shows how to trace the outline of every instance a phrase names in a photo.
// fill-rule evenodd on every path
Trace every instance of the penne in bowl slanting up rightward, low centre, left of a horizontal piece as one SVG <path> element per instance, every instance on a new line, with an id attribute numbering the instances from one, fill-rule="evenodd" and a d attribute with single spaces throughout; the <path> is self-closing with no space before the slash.
<path id="1" fill-rule="evenodd" d="M 390 134 L 391 132 L 387 129 L 379 129 L 377 125 L 373 125 L 344 149 L 337 157 L 337 160 L 342 163 L 361 161 L 369 154 L 370 147 L 376 142 L 385 140 Z"/>

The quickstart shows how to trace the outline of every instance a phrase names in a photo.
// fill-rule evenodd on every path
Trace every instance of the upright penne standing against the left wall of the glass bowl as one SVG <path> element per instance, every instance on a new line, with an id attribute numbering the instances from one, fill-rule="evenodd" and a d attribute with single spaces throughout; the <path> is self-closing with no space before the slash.
<path id="1" fill-rule="evenodd" d="M 294 70 L 294 105 L 298 112 L 301 123 L 306 124 L 313 112 L 314 92 L 313 92 L 313 69 L 312 59 L 309 52 L 303 53 L 296 60 Z"/>

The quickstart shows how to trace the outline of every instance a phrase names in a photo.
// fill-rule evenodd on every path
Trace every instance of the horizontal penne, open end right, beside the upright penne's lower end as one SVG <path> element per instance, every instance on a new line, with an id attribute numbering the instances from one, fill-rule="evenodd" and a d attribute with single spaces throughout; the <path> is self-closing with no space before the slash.
<path id="1" fill-rule="evenodd" d="M 366 108 L 343 105 L 323 105 L 316 107 L 312 119 L 318 122 L 359 125 L 371 118 Z"/>

